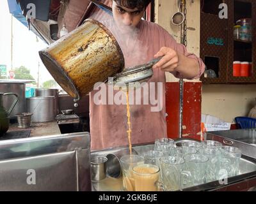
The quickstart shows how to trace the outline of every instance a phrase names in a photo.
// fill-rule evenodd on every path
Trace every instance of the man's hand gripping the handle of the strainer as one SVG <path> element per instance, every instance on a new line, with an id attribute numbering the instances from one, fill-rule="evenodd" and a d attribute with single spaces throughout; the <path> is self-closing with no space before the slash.
<path id="1" fill-rule="evenodd" d="M 168 47 L 162 47 L 159 52 L 154 56 L 163 57 L 153 68 L 161 68 L 162 71 L 173 72 L 179 66 L 180 56 L 175 50 Z"/>

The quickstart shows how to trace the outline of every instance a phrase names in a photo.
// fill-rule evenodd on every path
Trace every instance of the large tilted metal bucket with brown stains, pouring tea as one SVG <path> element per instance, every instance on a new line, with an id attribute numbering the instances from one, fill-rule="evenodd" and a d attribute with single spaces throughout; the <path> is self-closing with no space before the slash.
<path id="1" fill-rule="evenodd" d="M 124 55 L 114 36 L 91 19 L 39 54 L 56 82 L 77 100 L 97 82 L 124 69 Z"/>

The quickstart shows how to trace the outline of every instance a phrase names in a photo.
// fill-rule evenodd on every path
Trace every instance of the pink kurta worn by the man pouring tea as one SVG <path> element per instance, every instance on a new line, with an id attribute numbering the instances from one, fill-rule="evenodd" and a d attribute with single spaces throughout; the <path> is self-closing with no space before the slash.
<path id="1" fill-rule="evenodd" d="M 198 77 L 204 72 L 204 63 L 194 54 L 189 54 L 184 45 L 177 43 L 173 37 L 162 27 L 146 20 L 141 20 L 138 25 L 139 33 L 135 41 L 138 44 L 132 46 L 133 51 L 129 50 L 125 56 L 125 67 L 141 62 L 148 62 L 154 59 L 154 55 L 161 47 L 170 47 L 188 57 L 196 59 L 200 65 Z M 134 39 L 131 40 L 134 43 Z M 138 47 L 139 45 L 140 47 Z M 131 48 L 131 47 L 130 47 Z M 143 56 L 141 60 L 134 61 L 136 58 L 136 50 L 143 48 Z M 131 56 L 134 53 L 134 56 Z M 130 55 L 130 57 L 129 57 Z M 179 73 L 173 73 L 175 77 L 180 77 Z M 197 78 L 198 78 L 197 77 Z M 156 138 L 167 136 L 166 127 L 166 106 L 165 106 L 165 73 L 161 69 L 154 69 L 154 75 L 148 82 L 163 83 L 163 109 L 159 112 L 152 112 L 152 105 L 131 105 L 131 138 L 132 144 L 154 142 Z M 128 145 L 127 139 L 127 107 L 126 105 L 95 105 L 93 97 L 97 91 L 90 93 L 90 134 L 91 149 L 99 150 L 109 147 L 120 147 Z M 116 92 L 114 92 L 115 94 Z M 148 95 L 144 96 L 148 97 Z M 107 95 L 108 98 L 108 95 Z M 143 94 L 141 96 L 143 100 Z M 156 94 L 157 99 L 157 94 Z M 142 103 L 143 104 L 143 103 Z"/>

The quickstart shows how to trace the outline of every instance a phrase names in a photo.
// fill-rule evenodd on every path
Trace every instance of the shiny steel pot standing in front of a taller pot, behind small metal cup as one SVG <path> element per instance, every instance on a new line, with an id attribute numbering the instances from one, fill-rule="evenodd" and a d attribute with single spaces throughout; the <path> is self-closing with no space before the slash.
<path id="1" fill-rule="evenodd" d="M 27 112 L 33 113 L 31 122 L 48 122 L 55 120 L 55 97 L 27 98 Z"/>

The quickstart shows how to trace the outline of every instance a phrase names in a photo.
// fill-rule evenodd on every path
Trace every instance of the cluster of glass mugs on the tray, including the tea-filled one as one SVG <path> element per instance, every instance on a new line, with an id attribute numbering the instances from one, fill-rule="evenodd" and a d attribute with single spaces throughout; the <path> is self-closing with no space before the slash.
<path id="1" fill-rule="evenodd" d="M 208 182 L 223 184 L 239 173 L 240 158 L 241 150 L 213 140 L 183 142 L 177 147 L 172 139 L 157 139 L 154 150 L 132 160 L 131 156 L 121 158 L 124 189 L 178 191 Z"/>

